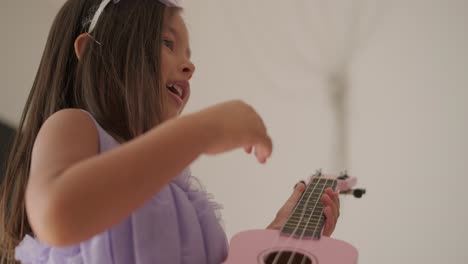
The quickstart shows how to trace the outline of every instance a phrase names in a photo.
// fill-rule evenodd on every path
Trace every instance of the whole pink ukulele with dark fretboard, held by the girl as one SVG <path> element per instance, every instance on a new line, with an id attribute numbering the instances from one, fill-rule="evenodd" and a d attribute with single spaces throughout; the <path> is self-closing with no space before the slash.
<path id="1" fill-rule="evenodd" d="M 356 264 L 356 248 L 341 240 L 321 237 L 325 216 L 320 201 L 327 187 L 360 198 L 365 190 L 352 190 L 356 181 L 345 173 L 335 178 L 318 171 L 280 231 L 236 234 L 224 264 Z"/>

